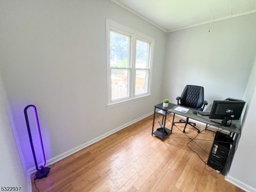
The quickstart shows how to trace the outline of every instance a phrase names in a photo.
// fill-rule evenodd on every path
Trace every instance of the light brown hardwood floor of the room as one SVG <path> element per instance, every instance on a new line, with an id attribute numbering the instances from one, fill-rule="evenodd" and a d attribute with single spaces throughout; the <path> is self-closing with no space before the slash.
<path id="1" fill-rule="evenodd" d="M 170 128 L 172 114 L 167 118 Z M 40 192 L 243 192 L 204 163 L 212 132 L 198 134 L 188 126 L 186 136 L 180 131 L 184 124 L 177 124 L 162 142 L 151 136 L 152 120 L 149 116 L 48 166 L 48 177 L 35 180 L 37 188 Z M 158 120 L 155 128 L 160 127 Z M 198 140 L 188 139 L 197 134 Z M 34 174 L 36 192 L 33 178 Z"/>

